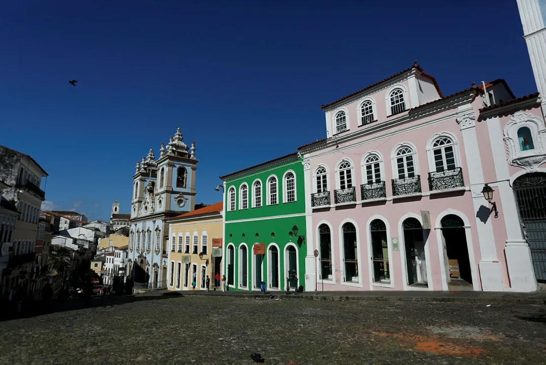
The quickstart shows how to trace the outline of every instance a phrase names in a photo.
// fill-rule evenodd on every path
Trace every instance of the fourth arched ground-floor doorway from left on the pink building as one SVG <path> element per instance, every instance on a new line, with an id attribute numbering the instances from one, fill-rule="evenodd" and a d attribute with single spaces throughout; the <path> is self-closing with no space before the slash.
<path id="1" fill-rule="evenodd" d="M 428 287 L 423 226 L 416 218 L 407 218 L 402 223 L 408 285 Z"/>

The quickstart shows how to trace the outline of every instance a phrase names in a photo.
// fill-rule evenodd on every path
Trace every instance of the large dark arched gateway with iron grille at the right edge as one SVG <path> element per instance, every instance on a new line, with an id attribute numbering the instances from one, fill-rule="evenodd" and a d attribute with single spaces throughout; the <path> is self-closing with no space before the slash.
<path id="1" fill-rule="evenodd" d="M 546 173 L 533 172 L 513 183 L 519 219 L 538 282 L 546 282 Z"/>

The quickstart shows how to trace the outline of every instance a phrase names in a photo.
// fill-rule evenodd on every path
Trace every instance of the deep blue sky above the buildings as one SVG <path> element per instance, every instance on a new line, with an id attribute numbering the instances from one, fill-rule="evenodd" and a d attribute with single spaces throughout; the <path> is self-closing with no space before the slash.
<path id="1" fill-rule="evenodd" d="M 522 37 L 515 0 L 3 1 L 0 144 L 48 171 L 49 207 L 109 219 L 180 127 L 213 203 L 219 175 L 323 138 L 321 104 L 416 59 L 444 95 L 536 92 Z"/>

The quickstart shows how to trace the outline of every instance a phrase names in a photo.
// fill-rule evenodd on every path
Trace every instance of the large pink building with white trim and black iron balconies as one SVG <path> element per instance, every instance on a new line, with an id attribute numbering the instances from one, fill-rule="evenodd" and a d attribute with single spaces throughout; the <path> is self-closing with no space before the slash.
<path id="1" fill-rule="evenodd" d="M 416 63 L 323 105 L 328 137 L 299 148 L 306 288 L 536 290 L 546 280 L 540 102 L 504 80 L 444 96 Z"/>

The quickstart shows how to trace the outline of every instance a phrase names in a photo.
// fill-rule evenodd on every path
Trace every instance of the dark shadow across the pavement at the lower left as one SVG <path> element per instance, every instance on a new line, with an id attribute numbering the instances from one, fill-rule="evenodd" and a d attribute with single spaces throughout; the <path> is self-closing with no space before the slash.
<path id="1" fill-rule="evenodd" d="M 2 314 L 0 314 L 0 321 L 9 321 L 19 318 L 31 318 L 39 315 L 68 312 L 70 310 L 79 310 L 85 308 L 98 308 L 98 307 L 114 307 L 122 304 L 150 301 L 150 300 L 162 300 L 173 297 L 182 297 L 179 292 L 166 292 L 159 295 L 105 295 L 105 296 L 92 296 L 90 298 L 75 298 L 66 300 L 54 300 L 48 305 L 46 303 L 37 303 L 37 308 L 28 309 L 24 312 L 14 313 L 9 308 L 3 308 Z M 6 310 L 7 309 L 7 310 Z"/>

